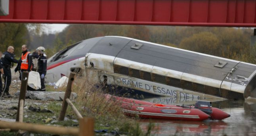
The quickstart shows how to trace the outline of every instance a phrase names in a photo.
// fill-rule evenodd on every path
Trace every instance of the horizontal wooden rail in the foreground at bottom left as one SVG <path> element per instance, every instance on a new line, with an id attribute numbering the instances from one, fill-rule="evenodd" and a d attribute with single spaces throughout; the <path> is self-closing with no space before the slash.
<path id="1" fill-rule="evenodd" d="M 10 128 L 11 130 L 26 130 L 36 133 L 47 133 L 57 135 L 72 135 L 78 136 L 78 128 L 66 128 L 56 126 L 46 126 L 32 123 L 20 123 L 20 122 L 6 122 L 0 121 L 0 128 Z"/>

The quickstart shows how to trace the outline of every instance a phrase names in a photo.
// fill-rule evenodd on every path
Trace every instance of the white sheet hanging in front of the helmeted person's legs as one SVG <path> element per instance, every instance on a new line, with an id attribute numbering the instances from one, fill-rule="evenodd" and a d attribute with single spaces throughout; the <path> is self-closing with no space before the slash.
<path id="1" fill-rule="evenodd" d="M 36 71 L 30 71 L 28 75 L 28 86 L 37 90 L 41 88 L 40 75 Z"/>

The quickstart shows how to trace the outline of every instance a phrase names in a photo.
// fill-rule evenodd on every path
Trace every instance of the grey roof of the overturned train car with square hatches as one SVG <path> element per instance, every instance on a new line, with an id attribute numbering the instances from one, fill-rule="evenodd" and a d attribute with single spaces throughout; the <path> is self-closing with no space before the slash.
<path id="1" fill-rule="evenodd" d="M 89 52 L 237 84 L 241 80 L 235 79 L 246 82 L 256 70 L 250 63 L 119 36 L 102 37 Z"/>

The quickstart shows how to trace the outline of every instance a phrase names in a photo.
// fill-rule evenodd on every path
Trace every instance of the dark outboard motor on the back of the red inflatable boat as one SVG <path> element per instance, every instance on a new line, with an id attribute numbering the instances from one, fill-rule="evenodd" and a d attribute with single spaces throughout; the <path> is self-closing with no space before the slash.
<path id="1" fill-rule="evenodd" d="M 210 101 L 206 101 L 206 100 L 198 100 L 198 101 L 196 101 L 195 109 L 200 109 L 201 111 L 203 111 L 204 113 L 207 113 L 209 115 L 211 113 L 213 113 L 212 107 L 211 107 L 211 102 Z"/>

